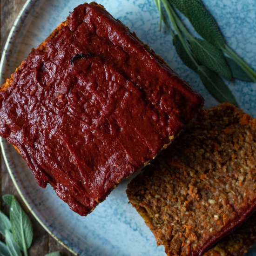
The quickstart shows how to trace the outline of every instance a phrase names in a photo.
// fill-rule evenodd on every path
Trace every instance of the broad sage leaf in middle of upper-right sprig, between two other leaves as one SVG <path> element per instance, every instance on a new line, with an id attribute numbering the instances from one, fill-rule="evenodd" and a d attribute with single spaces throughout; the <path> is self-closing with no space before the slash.
<path id="1" fill-rule="evenodd" d="M 203 39 L 194 38 L 190 41 L 196 59 L 218 75 L 231 80 L 232 73 L 224 54 L 214 45 Z"/>

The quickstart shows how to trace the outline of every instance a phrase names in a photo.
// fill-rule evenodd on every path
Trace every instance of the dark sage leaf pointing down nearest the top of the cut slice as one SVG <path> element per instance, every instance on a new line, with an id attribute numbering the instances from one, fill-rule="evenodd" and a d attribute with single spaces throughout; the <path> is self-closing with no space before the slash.
<path id="1" fill-rule="evenodd" d="M 204 66 L 198 67 L 198 74 L 201 81 L 209 93 L 219 102 L 230 102 L 239 108 L 234 95 L 229 90 L 223 80 L 209 68 Z"/>

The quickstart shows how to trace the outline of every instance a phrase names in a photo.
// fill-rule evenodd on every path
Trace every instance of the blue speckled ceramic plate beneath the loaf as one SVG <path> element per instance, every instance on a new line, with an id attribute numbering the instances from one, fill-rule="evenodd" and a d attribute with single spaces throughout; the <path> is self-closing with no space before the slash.
<path id="1" fill-rule="evenodd" d="M 0 64 L 1 82 L 37 47 L 68 12 L 83 0 L 31 0 L 18 16 Z M 134 30 L 138 37 L 160 54 L 180 76 L 205 97 L 206 107 L 217 102 L 202 86 L 198 76 L 185 67 L 174 48 L 172 38 L 159 32 L 159 17 L 153 0 L 99 0 L 106 9 Z M 256 1 L 204 0 L 218 21 L 229 45 L 256 68 Z M 256 116 L 256 84 L 228 83 L 241 108 Z M 24 201 L 49 233 L 75 253 L 84 256 L 164 256 L 153 234 L 125 193 L 129 180 L 121 182 L 107 200 L 87 217 L 81 217 L 62 202 L 53 189 L 41 189 L 26 162 L 6 141 L 1 141 L 10 175 Z M 256 247 L 248 256 L 256 255 Z"/>

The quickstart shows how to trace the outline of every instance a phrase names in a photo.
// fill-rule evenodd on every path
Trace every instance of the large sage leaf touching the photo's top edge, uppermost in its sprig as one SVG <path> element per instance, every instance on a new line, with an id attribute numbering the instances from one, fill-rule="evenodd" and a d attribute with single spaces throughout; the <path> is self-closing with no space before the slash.
<path id="1" fill-rule="evenodd" d="M 218 48 L 225 47 L 225 40 L 216 23 L 202 0 L 182 0 L 186 15 L 198 34 Z"/>

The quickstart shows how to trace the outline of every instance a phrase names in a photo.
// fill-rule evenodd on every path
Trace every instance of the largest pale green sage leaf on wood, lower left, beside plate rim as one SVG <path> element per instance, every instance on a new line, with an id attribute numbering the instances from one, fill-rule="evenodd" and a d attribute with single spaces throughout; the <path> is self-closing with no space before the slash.
<path id="1" fill-rule="evenodd" d="M 10 221 L 14 241 L 22 251 L 27 252 L 33 239 L 32 224 L 14 196 L 10 208 Z"/>

